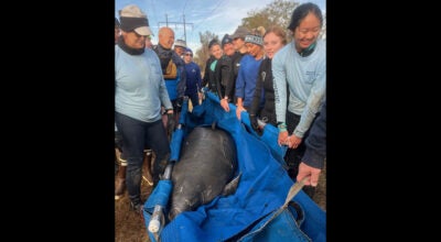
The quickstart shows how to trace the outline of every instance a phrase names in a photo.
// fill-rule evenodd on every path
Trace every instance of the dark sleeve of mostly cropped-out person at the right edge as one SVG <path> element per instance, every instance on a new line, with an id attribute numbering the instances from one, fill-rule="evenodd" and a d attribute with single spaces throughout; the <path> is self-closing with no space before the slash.
<path id="1" fill-rule="evenodd" d="M 326 157 L 326 100 L 324 100 L 320 114 L 313 122 L 310 134 L 304 142 L 306 151 L 302 162 L 322 169 Z"/>

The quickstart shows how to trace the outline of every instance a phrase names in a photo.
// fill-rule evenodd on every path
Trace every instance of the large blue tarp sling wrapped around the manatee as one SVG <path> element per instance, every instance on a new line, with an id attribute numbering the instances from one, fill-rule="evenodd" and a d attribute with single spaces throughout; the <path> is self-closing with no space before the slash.
<path id="1" fill-rule="evenodd" d="M 236 107 L 230 105 L 230 111 L 225 112 L 218 98 L 211 92 L 206 94 L 201 106 L 196 106 L 192 112 L 186 112 L 184 109 L 182 116 L 181 121 L 185 120 L 183 130 L 173 133 L 173 135 L 176 133 L 180 139 L 184 139 L 194 127 L 212 125 L 213 122 L 216 122 L 219 129 L 229 132 L 237 147 L 236 174 L 241 173 L 241 177 L 235 194 L 217 197 L 195 211 L 180 213 L 172 221 L 165 220 L 165 226 L 159 233 L 160 239 L 162 242 L 236 241 L 232 238 L 244 234 L 244 231 L 250 228 L 252 231 L 256 224 L 262 222 L 262 218 L 283 205 L 293 185 L 293 180 L 283 168 L 282 157 L 286 147 L 277 144 L 277 128 L 266 125 L 263 134 L 257 135 L 250 128 L 246 112 L 243 112 L 241 121 L 239 121 L 236 118 Z M 179 154 L 180 148 L 173 142 L 176 141 L 172 139 L 172 156 L 173 153 Z M 160 198 L 157 195 L 163 195 L 162 189 L 170 194 L 166 190 L 170 189 L 169 186 L 170 183 L 166 183 L 162 188 L 159 184 L 144 204 L 146 228 L 148 228 L 154 205 L 159 201 L 164 204 L 163 197 Z M 300 224 L 301 231 L 314 242 L 326 241 L 326 213 L 303 191 L 300 191 L 292 200 L 300 205 L 304 212 L 304 220 Z M 149 235 L 152 241 L 155 241 L 153 234 L 149 232 Z"/>

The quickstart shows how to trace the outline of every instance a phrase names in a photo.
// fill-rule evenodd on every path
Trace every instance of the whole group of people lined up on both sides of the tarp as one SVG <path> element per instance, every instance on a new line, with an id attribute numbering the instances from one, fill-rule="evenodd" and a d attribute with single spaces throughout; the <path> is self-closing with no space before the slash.
<path id="1" fill-rule="evenodd" d="M 311 186 L 305 187 L 315 187 L 326 156 L 322 24 L 320 8 L 303 3 L 294 9 L 288 26 L 291 43 L 281 26 L 238 26 L 220 42 L 209 42 L 211 56 L 202 78 L 193 51 L 185 41 L 174 40 L 172 29 L 161 28 L 158 45 L 152 45 L 147 15 L 135 4 L 120 10 L 115 30 L 115 123 L 118 158 L 127 168 L 121 169 L 121 162 L 123 172 L 118 170 L 118 177 L 123 183 L 117 183 L 116 198 L 126 186 L 130 207 L 142 215 L 146 151 L 155 154 L 148 166 L 155 186 L 170 155 L 169 135 L 179 121 L 183 98 L 200 105 L 204 87 L 219 98 L 226 112 L 236 105 L 239 120 L 243 112 L 249 114 L 256 131 L 258 120 L 277 127 L 279 145 L 289 147 L 289 175 L 297 180 L 309 177 L 305 185 Z M 313 189 L 305 191 L 313 196 Z"/>

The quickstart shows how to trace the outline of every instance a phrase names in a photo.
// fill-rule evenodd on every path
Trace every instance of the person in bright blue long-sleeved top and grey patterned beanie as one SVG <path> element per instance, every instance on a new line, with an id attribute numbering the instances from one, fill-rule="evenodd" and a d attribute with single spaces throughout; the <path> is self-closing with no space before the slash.
<path id="1" fill-rule="evenodd" d="M 240 68 L 236 79 L 235 90 L 235 96 L 237 98 L 236 116 L 239 120 L 241 112 L 247 111 L 251 107 L 257 75 L 263 58 L 263 40 L 261 36 L 263 33 L 262 31 L 255 31 L 245 36 L 245 45 L 247 46 L 248 54 L 240 59 Z M 261 106 L 262 102 L 259 107 Z"/>

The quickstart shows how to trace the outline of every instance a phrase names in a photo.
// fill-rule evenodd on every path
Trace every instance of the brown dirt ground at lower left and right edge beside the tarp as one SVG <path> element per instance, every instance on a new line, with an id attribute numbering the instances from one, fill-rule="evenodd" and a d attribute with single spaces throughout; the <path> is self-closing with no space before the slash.
<path id="1" fill-rule="evenodd" d="M 141 184 L 141 197 L 147 200 L 152 187 L 146 180 Z M 326 168 L 323 169 L 314 201 L 326 211 Z M 127 191 L 122 198 L 115 201 L 115 242 L 150 242 L 146 223 L 140 216 L 130 211 Z"/>

